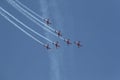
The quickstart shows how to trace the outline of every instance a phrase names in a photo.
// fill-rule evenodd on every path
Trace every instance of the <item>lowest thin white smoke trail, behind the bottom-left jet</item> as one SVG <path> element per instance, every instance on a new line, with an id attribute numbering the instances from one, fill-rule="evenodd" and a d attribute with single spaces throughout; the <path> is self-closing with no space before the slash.
<path id="1" fill-rule="evenodd" d="M 1 8 L 1 7 L 0 7 Z M 42 46 L 44 46 L 44 43 L 39 41 L 37 38 L 35 38 L 34 36 L 32 36 L 31 34 L 29 34 L 28 32 L 26 32 L 24 29 L 22 29 L 21 27 L 19 27 L 16 23 L 14 23 L 11 19 L 9 19 L 5 14 L 3 14 L 0 11 L 0 14 L 7 19 L 10 23 L 12 23 L 15 27 L 17 27 L 18 29 L 20 29 L 23 33 L 25 33 L 26 35 L 28 35 L 29 37 L 31 37 L 33 40 L 35 40 L 36 42 L 38 42 L 39 44 L 41 44 Z"/>

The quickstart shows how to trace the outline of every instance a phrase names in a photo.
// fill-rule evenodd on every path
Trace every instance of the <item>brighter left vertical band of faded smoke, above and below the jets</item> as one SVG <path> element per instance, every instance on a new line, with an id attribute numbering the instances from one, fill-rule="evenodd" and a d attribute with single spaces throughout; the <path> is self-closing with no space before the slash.
<path id="1" fill-rule="evenodd" d="M 49 16 L 49 6 L 47 0 L 40 0 L 40 7 L 42 16 Z M 49 36 L 49 34 L 46 33 L 46 36 Z M 54 52 L 57 54 L 50 54 L 50 76 L 51 80 L 61 80 L 60 79 L 60 63 L 59 63 L 59 54 L 58 52 Z"/>

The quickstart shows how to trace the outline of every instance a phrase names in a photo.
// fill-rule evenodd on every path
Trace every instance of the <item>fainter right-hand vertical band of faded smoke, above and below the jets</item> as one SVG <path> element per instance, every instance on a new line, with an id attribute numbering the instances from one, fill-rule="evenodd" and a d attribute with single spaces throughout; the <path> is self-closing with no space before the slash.
<path id="1" fill-rule="evenodd" d="M 49 6 L 49 11 L 50 11 L 50 14 L 51 14 L 51 16 L 52 16 L 52 18 L 54 19 L 54 21 L 55 21 L 55 27 L 56 27 L 56 25 L 60 25 L 60 29 L 62 30 L 63 29 L 63 27 L 62 26 L 64 26 L 64 20 L 63 20 L 63 17 L 62 17 L 62 15 L 61 15 L 61 12 L 60 12 L 60 9 L 59 9 L 59 3 L 57 2 L 58 0 L 50 0 L 50 2 L 49 2 L 49 4 L 48 4 L 48 6 Z M 61 5 L 60 5 L 61 6 Z M 63 21 L 63 22 L 62 22 Z M 63 30 L 62 30 L 63 31 Z M 56 68 L 56 69 L 54 69 L 54 67 L 53 67 L 53 70 L 55 70 L 56 71 L 56 76 L 57 76 L 57 80 L 65 80 L 64 79 L 64 76 L 63 76 L 63 74 L 62 74 L 62 72 L 61 72 L 61 70 L 64 70 L 62 67 L 64 66 L 63 64 L 64 64 L 64 58 L 63 58 L 63 56 L 64 56 L 64 48 L 62 48 L 61 47 L 61 49 L 60 49 L 60 51 L 59 52 L 57 52 L 57 56 L 56 56 L 56 58 L 57 58 L 57 65 L 56 66 L 54 66 L 54 67 L 57 67 L 58 66 L 58 68 Z M 53 58 L 51 58 L 51 60 L 54 62 L 54 64 L 55 64 L 55 61 L 54 61 L 54 59 Z M 55 80 L 55 79 L 53 79 L 53 80 Z"/>

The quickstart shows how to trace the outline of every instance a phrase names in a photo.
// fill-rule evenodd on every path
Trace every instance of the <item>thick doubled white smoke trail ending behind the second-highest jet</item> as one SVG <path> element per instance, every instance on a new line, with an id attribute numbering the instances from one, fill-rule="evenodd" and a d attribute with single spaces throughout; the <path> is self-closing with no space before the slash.
<path id="1" fill-rule="evenodd" d="M 53 28 L 51 28 L 50 26 L 46 25 L 45 23 L 43 23 L 42 21 L 40 21 L 38 18 L 36 18 L 35 16 L 33 16 L 31 13 L 29 13 L 28 11 L 26 11 L 25 9 L 23 9 L 22 7 L 20 7 L 16 2 L 14 2 L 13 0 L 7 0 L 13 7 L 15 7 L 18 11 L 20 11 L 22 14 L 24 14 L 26 17 L 28 17 L 30 20 L 32 20 L 33 22 L 35 22 L 37 25 L 39 25 L 41 28 L 47 30 L 48 32 L 50 32 L 51 34 L 53 34 L 54 36 L 58 37 L 58 35 L 55 32 L 55 30 Z M 31 16 L 31 17 L 30 17 Z M 35 19 L 35 20 L 34 20 Z M 46 26 L 47 28 L 45 28 L 44 26 L 42 26 L 41 24 L 39 24 L 38 22 L 42 23 L 44 26 Z M 50 30 L 54 31 L 50 31 Z M 59 37 L 60 39 L 64 40 L 63 37 Z"/>

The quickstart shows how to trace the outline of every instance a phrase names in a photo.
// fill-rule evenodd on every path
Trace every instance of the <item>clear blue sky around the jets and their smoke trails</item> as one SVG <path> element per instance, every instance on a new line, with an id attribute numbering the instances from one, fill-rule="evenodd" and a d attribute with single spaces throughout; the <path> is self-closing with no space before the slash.
<path id="1" fill-rule="evenodd" d="M 54 28 L 72 41 L 80 40 L 83 47 L 67 46 L 55 38 L 61 48 L 47 51 L 0 16 L 0 80 L 120 80 L 119 0 L 20 1 L 40 15 L 40 2 L 46 1 L 46 16 Z M 0 6 L 41 34 L 46 33 L 6 0 L 0 0 Z M 58 69 L 52 72 L 51 67 Z"/>

